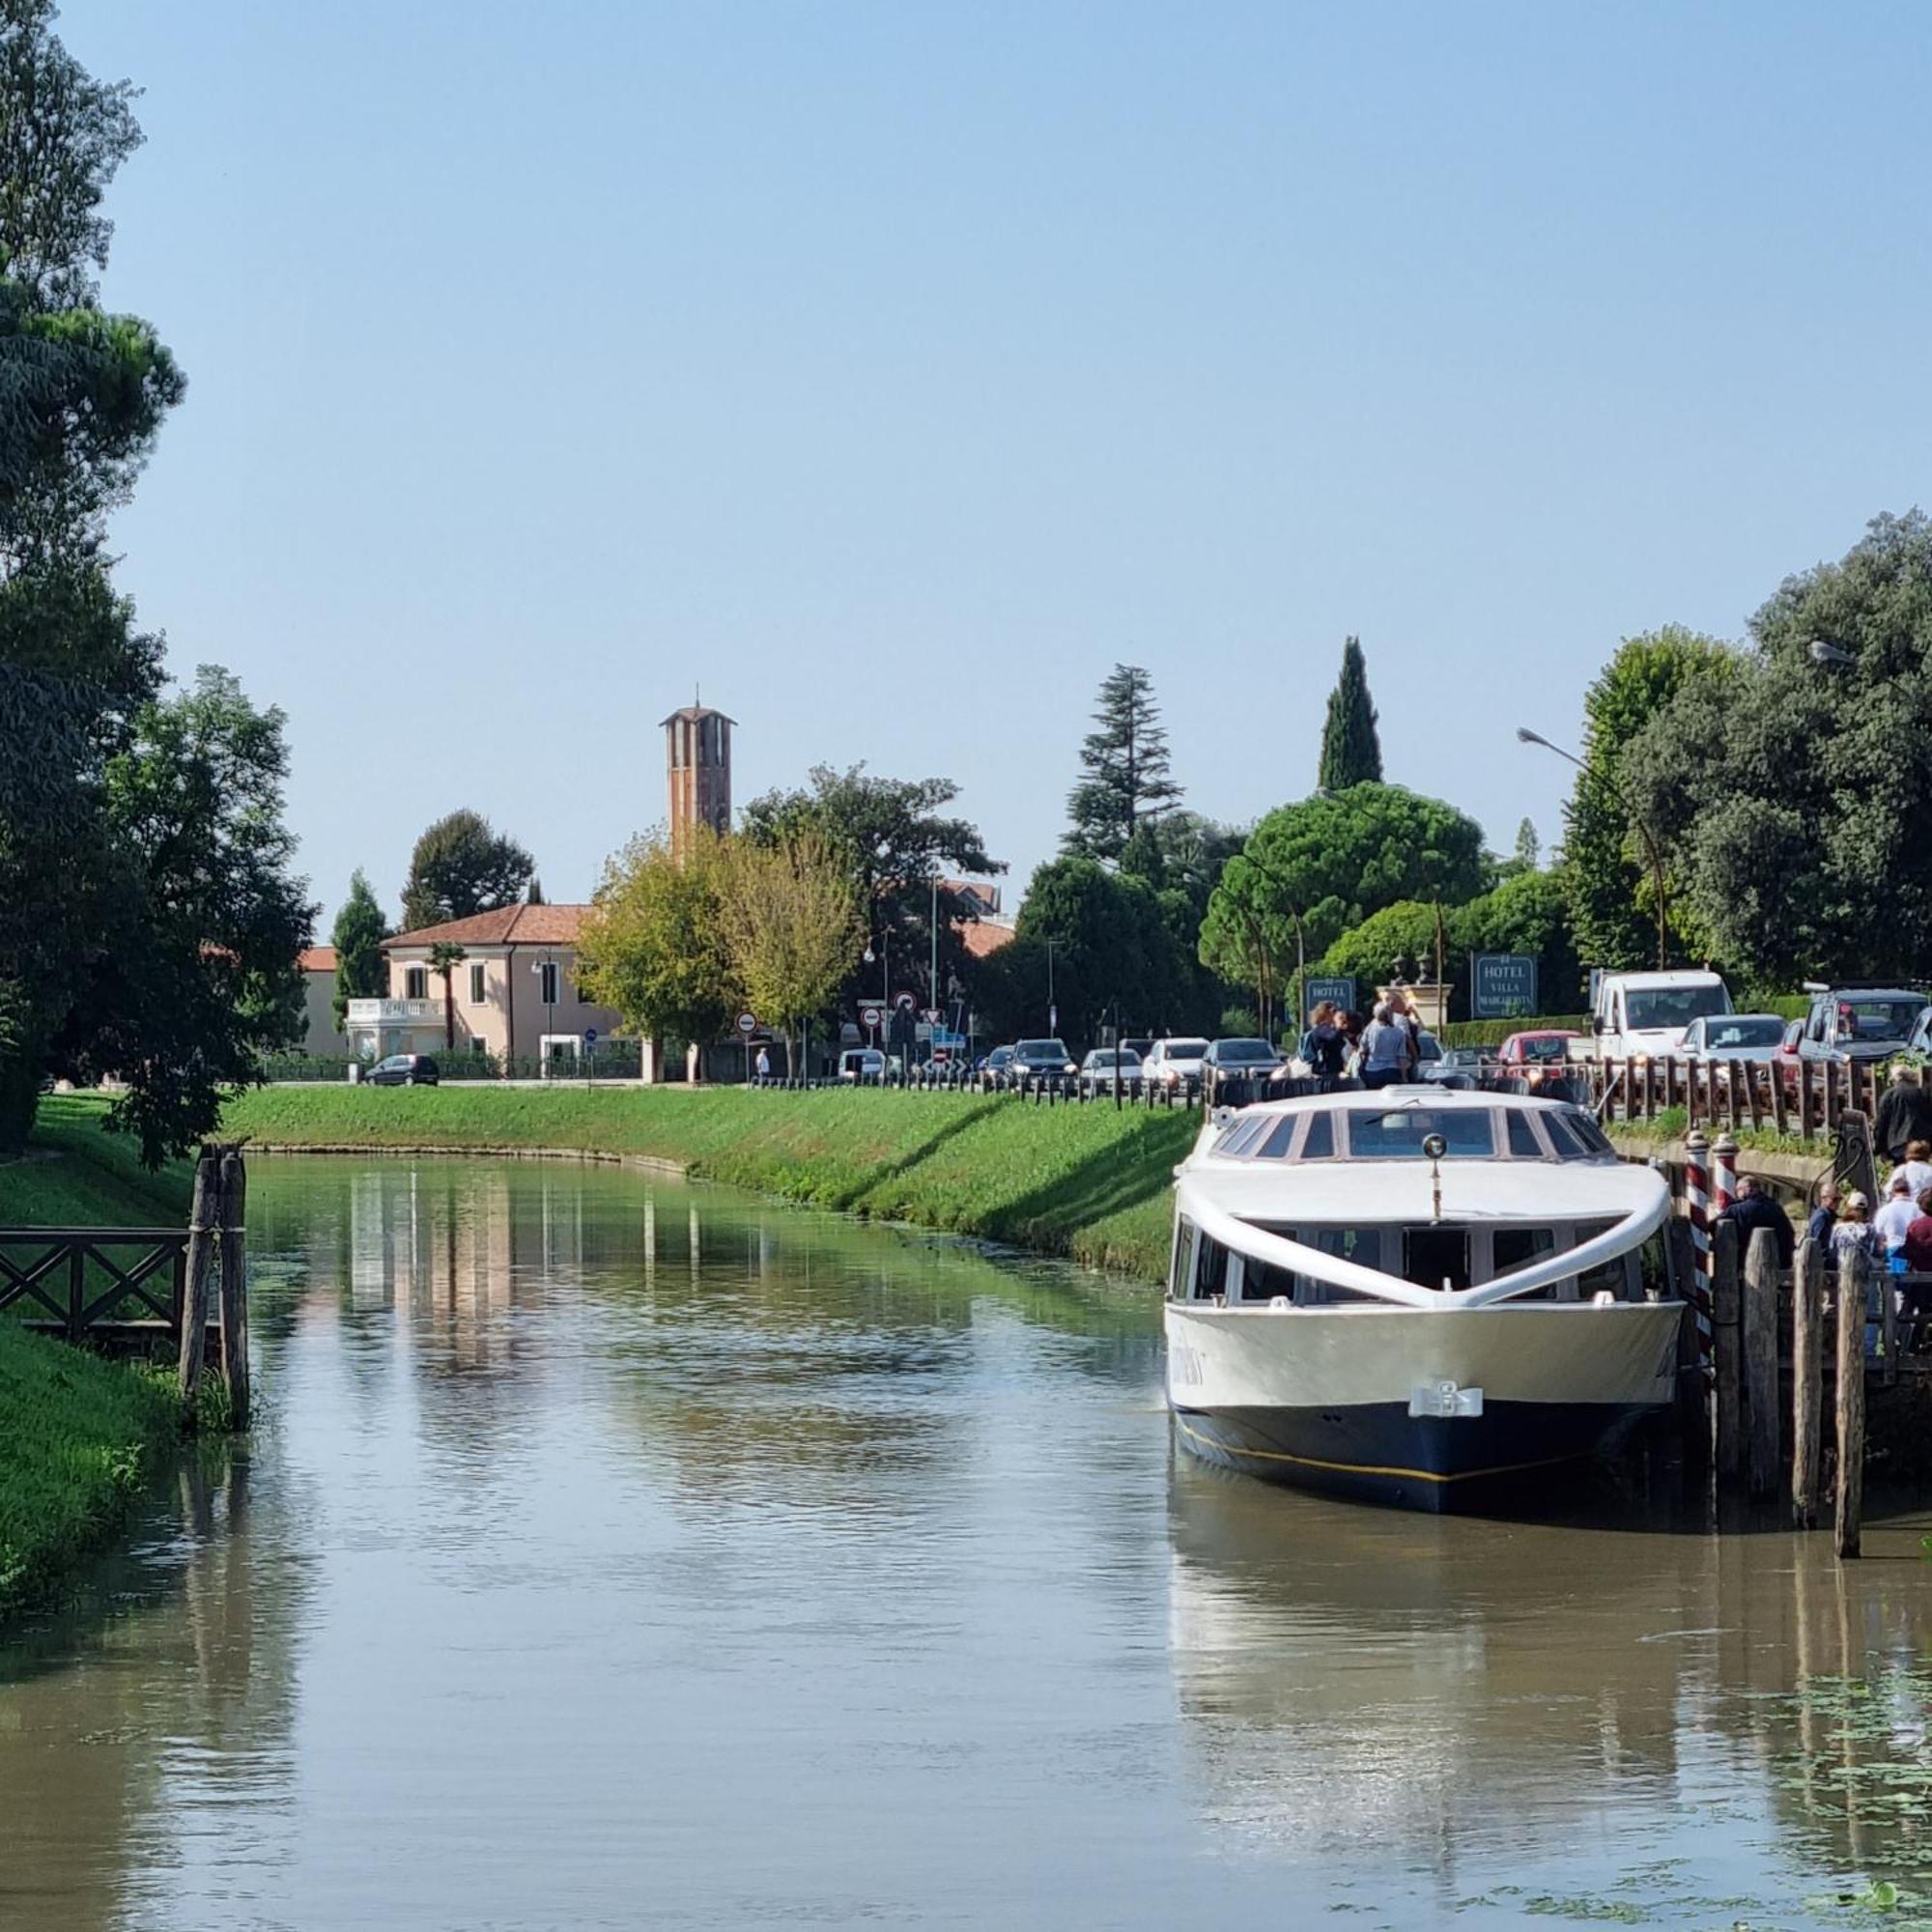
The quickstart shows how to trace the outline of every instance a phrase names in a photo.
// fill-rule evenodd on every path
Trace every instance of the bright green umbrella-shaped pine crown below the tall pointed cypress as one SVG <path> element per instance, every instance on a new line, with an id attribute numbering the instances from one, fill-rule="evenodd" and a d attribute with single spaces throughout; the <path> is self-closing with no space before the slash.
<path id="1" fill-rule="evenodd" d="M 1200 956 L 1267 1014 L 1298 960 L 1405 898 L 1461 904 L 1488 885 L 1482 827 L 1399 784 L 1318 792 L 1271 811 L 1227 862 Z"/>

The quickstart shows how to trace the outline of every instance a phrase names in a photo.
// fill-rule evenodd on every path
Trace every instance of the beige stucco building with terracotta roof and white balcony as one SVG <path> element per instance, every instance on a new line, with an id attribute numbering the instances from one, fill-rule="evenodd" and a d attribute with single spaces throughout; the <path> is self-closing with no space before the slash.
<path id="1" fill-rule="evenodd" d="M 612 1037 L 616 1012 L 585 999 L 576 978 L 585 912 L 589 906 L 500 906 L 384 939 L 388 997 L 350 1001 L 350 1051 L 373 1059 L 454 1051 L 556 1061 L 574 1059 L 585 1032 Z M 439 945 L 464 951 L 446 989 L 429 962 Z"/>

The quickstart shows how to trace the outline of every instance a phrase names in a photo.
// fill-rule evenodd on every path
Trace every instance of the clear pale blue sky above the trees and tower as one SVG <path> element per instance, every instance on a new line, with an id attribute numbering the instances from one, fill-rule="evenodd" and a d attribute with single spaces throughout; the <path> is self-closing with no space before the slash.
<path id="1" fill-rule="evenodd" d="M 1932 14 L 70 0 L 147 89 L 108 299 L 189 373 L 116 524 L 288 711 L 334 916 L 473 804 L 553 898 L 663 815 L 947 773 L 1049 856 L 1148 665 L 1188 802 L 1559 827 L 1619 636 L 1932 497 Z"/>

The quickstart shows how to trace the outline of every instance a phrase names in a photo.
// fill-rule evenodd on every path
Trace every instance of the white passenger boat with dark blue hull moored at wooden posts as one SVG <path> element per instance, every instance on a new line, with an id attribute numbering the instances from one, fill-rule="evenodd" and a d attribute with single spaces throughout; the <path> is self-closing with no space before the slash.
<path id="1" fill-rule="evenodd" d="M 1673 1399 L 1669 1190 L 1567 1101 L 1273 1101 L 1175 1179 L 1167 1397 L 1208 1461 L 1443 1511 Z"/>

